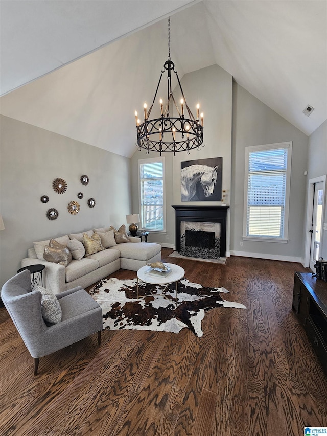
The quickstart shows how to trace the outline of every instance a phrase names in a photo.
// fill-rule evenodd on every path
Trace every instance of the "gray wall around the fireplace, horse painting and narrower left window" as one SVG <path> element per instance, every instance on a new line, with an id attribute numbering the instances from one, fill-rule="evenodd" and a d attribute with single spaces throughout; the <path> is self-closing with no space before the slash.
<path id="1" fill-rule="evenodd" d="M 173 247 L 175 244 L 175 210 L 172 204 L 190 204 L 181 202 L 180 198 L 180 162 L 184 160 L 222 157 L 222 186 L 227 191 L 227 204 L 230 201 L 231 178 L 231 111 L 232 111 L 232 76 L 218 65 L 212 65 L 193 73 L 185 74 L 181 79 L 183 92 L 188 105 L 196 116 L 196 104 L 200 103 L 200 112 L 204 113 L 204 147 L 190 154 L 165 153 L 166 164 L 166 219 L 165 234 L 151 232 L 149 240 L 159 242 L 163 246 Z M 153 90 L 154 92 L 155 90 Z M 176 102 L 180 101 L 179 87 L 174 90 Z M 159 98 L 159 97 L 158 97 Z M 137 160 L 157 157 L 156 152 L 136 151 L 132 156 L 132 197 L 133 213 L 137 213 L 138 205 L 138 170 Z M 196 205 L 219 205 L 221 201 L 205 201 L 192 203 Z M 227 251 L 229 250 L 229 215 L 227 224 Z M 168 236 L 168 238 L 167 238 Z"/>

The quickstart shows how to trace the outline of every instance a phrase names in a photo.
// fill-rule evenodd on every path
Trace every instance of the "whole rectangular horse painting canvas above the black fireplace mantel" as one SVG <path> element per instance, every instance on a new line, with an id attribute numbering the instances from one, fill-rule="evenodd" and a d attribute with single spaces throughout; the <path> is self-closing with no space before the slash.
<path id="1" fill-rule="evenodd" d="M 181 162 L 181 201 L 221 201 L 222 165 L 222 157 Z"/>

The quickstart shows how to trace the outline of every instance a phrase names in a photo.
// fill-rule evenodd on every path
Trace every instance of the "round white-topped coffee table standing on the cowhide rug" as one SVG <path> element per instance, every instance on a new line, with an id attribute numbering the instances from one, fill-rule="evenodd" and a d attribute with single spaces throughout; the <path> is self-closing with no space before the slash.
<path id="1" fill-rule="evenodd" d="M 165 265 L 167 265 L 171 271 L 169 274 L 167 274 L 167 276 L 161 276 L 160 273 L 156 273 L 156 272 L 152 272 L 151 268 L 148 265 L 143 266 L 142 268 L 140 268 L 137 271 L 137 298 L 139 298 L 138 296 L 138 281 L 141 280 L 142 282 L 145 283 L 151 283 L 153 285 L 166 285 L 165 289 L 162 291 L 164 292 L 167 288 L 167 286 L 170 283 L 174 283 L 176 282 L 176 306 L 178 303 L 178 282 L 184 277 L 185 275 L 185 271 L 183 270 L 183 268 L 179 265 L 175 265 L 174 263 L 166 263 Z M 153 294 L 150 295 L 142 295 L 143 297 L 147 297 L 147 296 L 154 296 Z M 160 295 L 161 296 L 161 295 Z M 167 300 L 170 300 L 168 297 L 166 297 L 165 295 L 162 295 L 164 298 L 166 298 Z"/>

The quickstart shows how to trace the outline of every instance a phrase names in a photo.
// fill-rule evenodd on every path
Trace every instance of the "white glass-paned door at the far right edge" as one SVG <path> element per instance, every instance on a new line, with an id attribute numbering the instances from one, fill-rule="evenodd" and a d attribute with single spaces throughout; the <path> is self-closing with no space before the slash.
<path id="1" fill-rule="evenodd" d="M 314 264 L 319 259 L 321 226 L 322 226 L 322 201 L 323 201 L 323 182 L 320 181 L 314 185 L 313 211 L 312 211 L 312 228 L 311 232 L 311 253 L 310 269 L 316 271 Z"/>

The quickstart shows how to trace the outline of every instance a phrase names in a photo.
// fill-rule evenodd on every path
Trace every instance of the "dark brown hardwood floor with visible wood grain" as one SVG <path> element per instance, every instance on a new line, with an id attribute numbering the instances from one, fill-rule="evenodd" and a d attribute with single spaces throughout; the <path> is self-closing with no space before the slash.
<path id="1" fill-rule="evenodd" d="M 293 311 L 298 263 L 168 258 L 247 310 L 206 313 L 203 336 L 104 331 L 33 359 L 0 308 L 0 434 L 299 436 L 327 426 L 327 378 Z M 134 278 L 119 270 L 110 277 Z"/>

